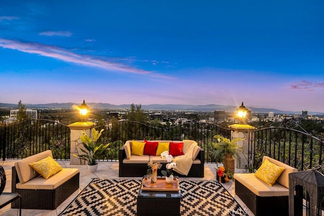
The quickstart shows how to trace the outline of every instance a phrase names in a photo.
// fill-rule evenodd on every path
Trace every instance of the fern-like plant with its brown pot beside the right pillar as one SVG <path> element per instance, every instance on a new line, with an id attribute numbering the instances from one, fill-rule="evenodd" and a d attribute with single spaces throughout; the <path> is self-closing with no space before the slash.
<path id="1" fill-rule="evenodd" d="M 212 155 L 214 156 L 216 163 L 218 162 L 218 157 L 224 155 L 223 163 L 225 169 L 234 174 L 234 158 L 237 158 L 238 163 L 240 164 L 240 153 L 244 154 L 243 148 L 237 145 L 237 141 L 240 141 L 242 139 L 235 138 L 233 140 L 229 140 L 221 135 L 215 135 L 214 138 L 216 139 L 216 142 L 212 142 Z"/>

